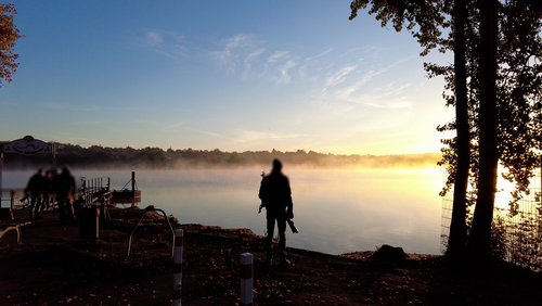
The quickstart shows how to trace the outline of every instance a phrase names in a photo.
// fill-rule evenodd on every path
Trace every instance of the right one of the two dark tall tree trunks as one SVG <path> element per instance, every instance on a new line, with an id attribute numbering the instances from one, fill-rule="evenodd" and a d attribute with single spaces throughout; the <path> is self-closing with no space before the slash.
<path id="1" fill-rule="evenodd" d="M 479 171 L 478 193 L 468 241 L 468 250 L 475 259 L 489 255 L 491 222 L 496 188 L 496 41 L 498 0 L 479 0 L 480 10 L 480 110 L 479 110 Z"/>

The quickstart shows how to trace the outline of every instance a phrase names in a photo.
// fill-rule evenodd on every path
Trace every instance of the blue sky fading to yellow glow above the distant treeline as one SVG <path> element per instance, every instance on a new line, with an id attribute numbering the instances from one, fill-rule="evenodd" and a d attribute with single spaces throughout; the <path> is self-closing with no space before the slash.
<path id="1" fill-rule="evenodd" d="M 408 33 L 350 0 L 12 1 L 0 140 L 136 149 L 438 152 L 453 118 Z"/>

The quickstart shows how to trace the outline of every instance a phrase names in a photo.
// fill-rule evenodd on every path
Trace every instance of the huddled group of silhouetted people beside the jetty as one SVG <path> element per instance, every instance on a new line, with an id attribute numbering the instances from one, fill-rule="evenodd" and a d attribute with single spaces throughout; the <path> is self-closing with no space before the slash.
<path id="1" fill-rule="evenodd" d="M 54 168 L 47 171 L 40 168 L 28 179 L 25 196 L 21 202 L 29 199 L 33 220 L 40 219 L 41 212 L 53 207 L 54 203 L 57 205 L 61 221 L 73 220 L 75 216 L 72 203 L 75 193 L 75 178 L 67 167 L 62 168 L 60 174 Z"/>

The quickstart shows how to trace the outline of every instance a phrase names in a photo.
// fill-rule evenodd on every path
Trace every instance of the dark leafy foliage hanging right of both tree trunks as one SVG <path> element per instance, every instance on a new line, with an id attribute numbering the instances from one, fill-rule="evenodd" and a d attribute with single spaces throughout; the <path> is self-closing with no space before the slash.
<path id="1" fill-rule="evenodd" d="M 504 178 L 516 182 L 512 208 L 529 192 L 542 164 L 542 10 L 540 2 L 509 0 L 501 8 L 499 144 Z M 513 211 L 514 212 L 514 211 Z"/>

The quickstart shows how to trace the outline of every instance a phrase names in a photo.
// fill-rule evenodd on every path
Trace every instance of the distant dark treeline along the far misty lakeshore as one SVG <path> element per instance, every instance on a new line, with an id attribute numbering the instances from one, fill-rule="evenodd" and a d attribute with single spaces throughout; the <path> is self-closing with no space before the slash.
<path id="1" fill-rule="evenodd" d="M 18 155 L 4 153 L 4 168 L 27 169 L 36 167 L 69 166 L 77 168 L 180 168 L 180 167 L 232 167 L 271 165 L 280 158 L 288 166 L 305 167 L 420 167 L 435 166 L 440 153 L 413 155 L 337 155 L 314 151 L 246 151 L 222 152 L 216 150 L 163 150 L 159 148 L 105 148 L 92 145 L 82 148 L 73 144 L 55 144 L 54 158 L 51 154 Z M 54 161 L 53 161 L 54 160 Z"/>

